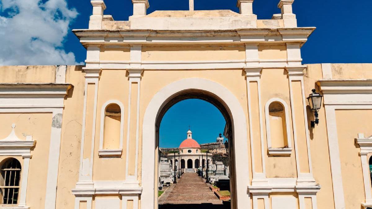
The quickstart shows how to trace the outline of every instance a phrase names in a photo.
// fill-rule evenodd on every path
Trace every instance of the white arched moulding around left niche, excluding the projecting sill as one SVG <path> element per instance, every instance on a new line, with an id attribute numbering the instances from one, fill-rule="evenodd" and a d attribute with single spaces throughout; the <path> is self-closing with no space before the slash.
<path id="1" fill-rule="evenodd" d="M 103 154 L 104 153 L 104 149 L 103 149 L 103 137 L 104 137 L 104 132 L 105 132 L 105 112 L 106 112 L 106 107 L 110 104 L 116 104 L 116 105 L 119 105 L 120 107 L 120 143 L 119 143 L 119 149 L 122 150 L 123 149 L 123 136 L 124 136 L 124 105 L 123 103 L 121 103 L 119 100 L 108 100 L 107 102 L 105 102 L 103 105 L 102 105 L 102 108 L 101 108 L 101 122 L 100 122 L 100 134 L 99 134 L 99 155 L 108 155 L 110 152 L 106 152 L 106 154 Z M 101 152 L 101 154 L 100 154 Z M 121 152 L 121 151 L 120 151 Z M 118 154 L 118 153 L 116 153 Z M 121 153 L 120 153 L 121 155 Z"/>

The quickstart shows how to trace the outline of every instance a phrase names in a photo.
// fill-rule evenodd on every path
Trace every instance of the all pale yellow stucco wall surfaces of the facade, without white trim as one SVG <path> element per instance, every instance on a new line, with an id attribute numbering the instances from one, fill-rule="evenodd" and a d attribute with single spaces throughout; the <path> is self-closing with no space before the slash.
<path id="1" fill-rule="evenodd" d="M 245 59 L 244 47 L 234 46 L 231 48 L 223 47 L 218 50 L 214 47 L 208 46 L 207 49 L 195 48 L 183 48 L 185 50 L 177 51 L 176 47 L 169 47 L 166 49 L 160 49 L 155 46 L 144 48 L 142 51 L 142 58 L 147 61 L 160 60 L 238 60 Z M 109 53 L 101 52 L 102 60 L 118 59 L 123 56 L 127 56 L 124 52 L 119 54 L 115 50 L 111 50 Z M 114 51 L 114 52 L 113 52 Z M 151 52 L 150 52 L 151 51 Z M 177 51 L 175 53 L 175 51 Z M 260 58 L 262 59 L 285 59 L 286 51 L 282 46 L 260 46 L 259 49 Z M 112 54 L 110 54 L 112 53 Z M 169 56 L 172 53 L 172 56 Z M 166 56 L 164 56 L 166 55 Z M 174 55 L 174 56 L 173 56 Z M 244 56 L 243 56 L 244 55 Z M 103 58 L 105 57 L 106 58 Z M 116 58 L 112 58 L 117 56 Z M 147 57 L 147 58 L 146 58 Z M 129 57 L 127 57 L 129 59 Z M 126 58 L 120 58 L 125 60 Z M 334 79 L 361 79 L 361 78 L 372 78 L 371 69 L 372 64 L 332 64 L 332 73 Z M 1 73 L 4 76 L 0 76 L 0 82 L 3 83 L 17 83 L 17 82 L 39 82 L 49 83 L 55 80 L 55 66 L 15 66 L 15 67 L 1 67 Z M 350 70 L 351 69 L 351 70 Z M 0 75 L 1 75 L 0 73 Z M 89 122 L 92 119 L 93 112 L 93 98 L 94 88 L 93 86 L 88 87 L 88 91 L 84 92 L 84 82 L 81 67 L 79 66 L 68 66 L 66 74 L 66 83 L 73 84 L 73 89 L 69 91 L 69 94 L 64 100 L 64 114 L 62 122 L 62 134 L 61 134 L 61 149 L 60 149 L 60 160 L 58 168 L 58 182 L 57 182 L 57 199 L 56 208 L 74 208 L 75 196 L 71 193 L 71 190 L 75 188 L 78 180 L 78 170 L 80 164 L 80 148 L 81 148 L 81 125 L 83 123 L 83 98 L 84 94 L 89 95 L 88 106 L 90 113 L 87 114 L 87 127 L 93 125 Z M 99 80 L 99 89 L 97 97 L 97 119 L 94 124 L 96 127 L 94 137 L 94 163 L 93 163 L 93 180 L 125 180 L 125 163 L 126 163 L 126 142 L 127 142 L 127 125 L 128 125 L 128 96 L 129 96 L 129 82 L 128 73 L 126 70 L 108 70 L 103 69 Z M 247 83 L 244 77 L 244 71 L 241 69 L 226 69 L 226 70 L 145 70 L 141 80 L 141 94 L 140 94 L 140 118 L 139 118 L 139 154 L 138 154 L 138 180 L 141 180 L 141 156 L 142 156 L 142 123 L 145 109 L 148 103 L 163 87 L 168 84 L 178 81 L 184 78 L 205 78 L 208 80 L 215 81 L 237 97 L 240 105 L 243 107 L 244 114 L 246 116 L 246 122 L 249 126 L 248 121 L 248 103 L 247 103 Z M 320 64 L 308 65 L 308 69 L 305 71 L 304 76 L 304 91 L 305 94 L 315 88 L 318 91 L 318 87 L 315 85 L 317 80 L 322 79 L 322 67 Z M 233 81 L 233 82 L 232 82 Z M 251 160 L 250 155 L 254 154 L 255 157 L 255 168 L 256 172 L 262 172 L 261 164 L 261 151 L 260 151 L 260 134 L 259 134 L 259 116 L 258 116 L 258 101 L 257 98 L 260 95 L 262 100 L 262 121 L 263 121 L 263 146 L 264 146 L 264 158 L 266 162 L 266 176 L 270 178 L 274 177 L 297 177 L 296 159 L 295 153 L 292 151 L 291 156 L 288 157 L 270 157 L 267 155 L 267 139 L 266 139 L 266 125 L 265 125 L 265 110 L 264 106 L 267 100 L 278 97 L 283 99 L 289 106 L 288 111 L 289 118 L 287 119 L 290 124 L 290 136 L 291 144 L 294 147 L 294 136 L 292 126 L 292 110 L 291 105 L 295 106 L 296 111 L 296 126 L 301 127 L 297 129 L 300 133 L 298 136 L 299 144 L 299 161 L 300 170 L 303 173 L 309 171 L 307 164 L 307 142 L 305 141 L 305 133 L 309 131 L 310 134 L 310 153 L 312 160 L 312 169 L 314 178 L 317 183 L 321 185 L 321 190 L 317 193 L 318 208 L 334 208 L 333 202 L 333 189 L 332 179 L 330 170 L 330 160 L 328 151 L 328 139 L 327 139 L 327 127 L 325 126 L 325 112 L 322 107 L 319 112 L 320 124 L 315 129 L 308 129 L 304 126 L 305 117 L 308 118 L 308 122 L 312 120 L 312 113 L 307 107 L 307 114 L 303 114 L 302 110 L 302 93 L 301 86 L 298 81 L 292 82 L 294 88 L 294 104 L 290 102 L 289 95 L 289 81 L 288 75 L 283 68 L 265 68 L 262 71 L 260 78 L 261 91 L 260 94 L 257 91 L 257 83 L 251 82 L 250 93 L 253 98 L 251 107 L 253 108 L 253 130 L 254 130 L 254 151 L 250 149 L 250 133 L 249 127 L 247 127 L 247 144 L 248 144 L 248 159 Z M 92 84 L 90 84 L 92 85 Z M 138 84 L 132 84 L 132 99 L 131 99 L 131 129 L 129 133 L 129 173 L 134 173 L 134 156 L 135 156 L 135 120 L 133 117 L 136 115 L 136 99 L 137 99 L 137 87 Z M 305 95 L 306 97 L 307 95 Z M 99 147 L 99 135 L 100 135 L 100 116 L 101 109 L 105 102 L 108 100 L 119 100 L 122 102 L 124 109 L 122 114 L 124 120 L 122 124 L 124 126 L 124 137 L 123 137 L 123 152 L 120 157 L 116 158 L 100 158 L 98 156 Z M 90 117 L 90 118 L 89 118 Z M 358 133 L 364 133 L 366 136 L 372 135 L 370 130 L 369 119 L 372 117 L 372 110 L 337 110 L 337 134 L 339 136 L 339 148 L 340 148 L 340 159 L 341 159 L 341 173 L 343 179 L 343 187 L 346 201 L 346 209 L 353 209 L 360 207 L 360 203 L 364 201 L 364 187 L 362 181 L 362 171 L 360 165 L 360 156 L 358 155 L 359 148 L 355 146 L 354 138 L 357 137 Z M 48 170 L 48 155 L 49 155 L 49 143 L 50 143 L 50 132 L 51 132 L 51 113 L 0 113 L 0 139 L 5 138 L 10 133 L 10 125 L 16 123 L 16 134 L 21 139 L 25 139 L 25 135 L 33 135 L 33 139 L 36 140 L 36 147 L 31 151 L 33 155 L 30 161 L 29 170 L 29 184 L 28 184 L 28 195 L 27 203 L 32 208 L 44 208 L 45 204 L 45 192 L 46 192 L 46 179 Z M 90 157 L 91 147 L 91 129 L 87 129 L 86 133 L 86 144 L 84 145 L 84 156 Z M 301 141 L 300 141 L 301 140 Z M 3 160 L 6 157 L 1 157 Z M 19 157 L 17 157 L 18 159 Z M 23 165 L 22 158 L 19 158 Z M 252 164 L 248 162 L 250 169 L 249 178 L 252 179 Z M 120 165 L 120 166 L 118 166 Z M 303 167 L 304 166 L 304 167 Z M 307 166 L 307 167 L 306 167 Z M 282 194 L 272 194 L 275 195 Z M 296 196 L 295 194 L 288 194 L 289 196 Z M 108 196 L 97 196 L 97 198 L 106 198 Z M 263 202 L 260 200 L 260 204 Z M 305 199 L 305 205 L 307 208 L 311 208 L 312 203 L 310 199 Z M 132 202 L 128 202 L 129 208 L 132 208 Z M 86 203 L 80 203 L 81 208 L 86 208 Z M 94 207 L 94 201 L 93 201 Z"/>

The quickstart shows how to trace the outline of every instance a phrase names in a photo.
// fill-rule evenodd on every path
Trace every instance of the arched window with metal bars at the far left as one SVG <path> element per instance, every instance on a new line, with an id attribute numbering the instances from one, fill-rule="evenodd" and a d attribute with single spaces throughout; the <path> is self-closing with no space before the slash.
<path id="1" fill-rule="evenodd" d="M 17 204 L 21 164 L 15 158 L 7 160 L 1 166 L 0 193 L 2 204 Z"/>

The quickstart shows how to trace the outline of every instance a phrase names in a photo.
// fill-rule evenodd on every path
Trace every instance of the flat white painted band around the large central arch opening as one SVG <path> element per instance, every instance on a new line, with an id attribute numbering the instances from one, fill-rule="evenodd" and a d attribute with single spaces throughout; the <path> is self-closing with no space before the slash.
<path id="1" fill-rule="evenodd" d="M 142 187 L 141 208 L 155 208 L 155 122 L 158 111 L 164 103 L 177 92 L 199 89 L 208 91 L 219 97 L 227 104 L 234 122 L 234 149 L 236 182 L 237 182 L 237 208 L 250 208 L 250 194 L 247 193 L 249 185 L 249 162 L 247 144 L 247 124 L 243 108 L 238 99 L 228 89 L 214 81 L 201 78 L 186 78 L 175 81 L 158 91 L 151 99 L 144 115 L 142 133 Z"/>

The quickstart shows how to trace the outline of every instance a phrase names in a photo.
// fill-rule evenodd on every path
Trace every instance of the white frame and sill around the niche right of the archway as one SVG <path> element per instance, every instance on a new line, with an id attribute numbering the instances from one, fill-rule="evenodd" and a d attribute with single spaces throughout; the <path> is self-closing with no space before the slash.
<path id="1" fill-rule="evenodd" d="M 287 131 L 287 144 L 288 148 L 272 148 L 271 147 L 271 130 L 270 130 L 270 116 L 269 116 L 269 106 L 273 102 L 279 102 L 284 107 L 285 112 L 285 125 Z M 289 107 L 287 103 L 280 98 L 272 98 L 266 102 L 265 105 L 265 119 L 266 119 L 266 139 L 267 148 L 269 149 L 269 155 L 291 155 L 292 151 L 292 138 L 291 138 L 291 128 L 289 127 Z"/>

